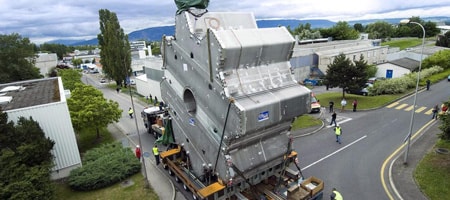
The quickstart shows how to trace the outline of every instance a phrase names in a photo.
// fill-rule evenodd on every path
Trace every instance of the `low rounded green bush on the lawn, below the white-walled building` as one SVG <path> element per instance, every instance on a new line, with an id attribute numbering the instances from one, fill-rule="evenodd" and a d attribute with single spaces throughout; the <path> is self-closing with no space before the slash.
<path id="1" fill-rule="evenodd" d="M 68 183 L 74 190 L 88 191 L 120 182 L 141 170 L 141 163 L 129 148 L 111 143 L 89 150 L 83 167 L 70 172 Z"/>

